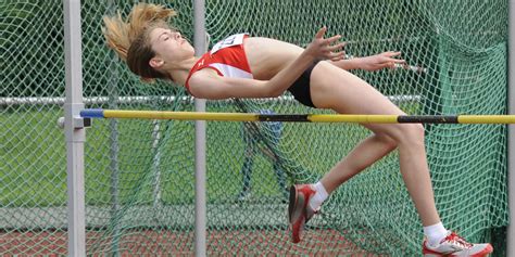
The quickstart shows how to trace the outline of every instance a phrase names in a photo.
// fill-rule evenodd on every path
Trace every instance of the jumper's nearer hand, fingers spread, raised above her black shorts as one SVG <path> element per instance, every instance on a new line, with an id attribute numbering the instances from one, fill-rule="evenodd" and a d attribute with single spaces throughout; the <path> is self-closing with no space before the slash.
<path id="1" fill-rule="evenodd" d="M 316 60 L 330 60 L 337 62 L 346 56 L 346 52 L 341 51 L 346 43 L 336 43 L 341 36 L 336 35 L 330 38 L 324 38 L 327 27 L 323 27 L 316 33 L 313 41 L 305 48 L 305 53 L 312 55 Z"/>

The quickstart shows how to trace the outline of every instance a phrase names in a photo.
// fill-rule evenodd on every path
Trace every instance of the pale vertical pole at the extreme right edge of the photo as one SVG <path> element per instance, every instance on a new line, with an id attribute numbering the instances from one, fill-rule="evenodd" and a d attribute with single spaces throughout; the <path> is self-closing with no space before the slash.
<path id="1" fill-rule="evenodd" d="M 508 2 L 507 44 L 507 102 L 508 114 L 515 114 L 515 0 Z M 515 256 L 515 125 L 507 126 L 507 198 L 510 223 L 507 226 L 506 256 Z"/>

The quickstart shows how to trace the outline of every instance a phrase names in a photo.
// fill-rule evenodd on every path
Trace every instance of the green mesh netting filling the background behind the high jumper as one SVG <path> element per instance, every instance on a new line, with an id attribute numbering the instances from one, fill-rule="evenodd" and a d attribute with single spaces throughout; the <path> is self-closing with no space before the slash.
<path id="1" fill-rule="evenodd" d="M 181 88 L 141 83 L 106 49 L 101 17 L 135 1 L 83 1 L 83 86 L 87 107 L 192 111 Z M 159 1 L 152 1 L 159 2 Z M 179 12 L 192 38 L 191 1 Z M 409 114 L 505 114 L 507 1 L 208 0 L 211 46 L 240 31 L 300 46 L 327 25 L 354 56 L 402 51 L 409 69 L 353 70 Z M 0 252 L 66 254 L 61 1 L 0 1 Z M 330 113 L 277 100 L 209 101 L 210 112 Z M 506 127 L 426 125 L 437 206 L 444 224 L 503 255 L 507 224 Z M 87 130 L 88 255 L 191 255 L 194 227 L 192 121 L 95 120 Z M 258 149 L 243 189 L 244 134 Z M 419 254 L 422 224 L 392 153 L 341 187 L 289 242 L 284 189 L 315 182 L 369 134 L 356 125 L 208 125 L 209 255 Z M 248 142 L 247 142 L 248 143 Z M 277 166 L 277 165 L 276 165 Z"/>

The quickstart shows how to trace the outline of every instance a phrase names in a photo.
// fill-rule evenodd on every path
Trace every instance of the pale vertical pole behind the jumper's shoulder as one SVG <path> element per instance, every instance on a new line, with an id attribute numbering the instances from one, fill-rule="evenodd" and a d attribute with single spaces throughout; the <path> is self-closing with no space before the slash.
<path id="1" fill-rule="evenodd" d="M 194 52 L 201 56 L 205 51 L 205 8 L 204 0 L 194 0 Z M 205 112 L 205 100 L 194 100 L 194 111 Z M 206 201 L 205 201 L 205 120 L 194 123 L 194 255 L 206 256 Z"/>

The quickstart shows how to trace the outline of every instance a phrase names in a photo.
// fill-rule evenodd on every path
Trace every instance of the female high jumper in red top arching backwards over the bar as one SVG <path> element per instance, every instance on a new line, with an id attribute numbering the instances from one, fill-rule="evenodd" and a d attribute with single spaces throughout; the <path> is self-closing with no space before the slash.
<path id="1" fill-rule="evenodd" d="M 176 13 L 165 7 L 136 4 L 127 20 L 104 17 L 103 34 L 130 70 L 145 80 L 184 85 L 196 98 L 273 98 L 285 91 L 300 103 L 340 114 L 405 115 L 374 87 L 347 72 L 376 70 L 404 63 L 400 52 L 344 60 L 339 35 L 324 38 L 321 28 L 305 48 L 288 42 L 233 35 L 197 57 L 187 39 L 168 22 Z M 486 256 L 490 244 L 472 244 L 447 230 L 435 205 L 420 124 L 362 124 L 373 134 L 357 144 L 321 181 L 293 185 L 289 221 L 292 241 L 323 202 L 343 182 L 399 150 L 400 171 L 424 227 L 426 256 Z M 334 142 L 336 143 L 336 142 Z"/>

